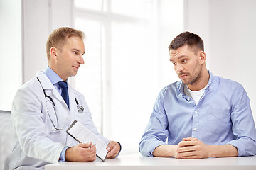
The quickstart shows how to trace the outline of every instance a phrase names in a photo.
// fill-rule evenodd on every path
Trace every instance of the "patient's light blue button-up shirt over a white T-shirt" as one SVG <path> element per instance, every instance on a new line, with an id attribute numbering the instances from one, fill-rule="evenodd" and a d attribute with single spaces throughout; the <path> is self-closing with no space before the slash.
<path id="1" fill-rule="evenodd" d="M 184 94 L 181 81 L 161 90 L 139 144 L 142 155 L 153 157 L 159 145 L 176 145 L 185 137 L 196 137 L 208 145 L 233 145 L 238 156 L 256 154 L 255 123 L 245 89 L 209 74 L 197 105 Z"/>

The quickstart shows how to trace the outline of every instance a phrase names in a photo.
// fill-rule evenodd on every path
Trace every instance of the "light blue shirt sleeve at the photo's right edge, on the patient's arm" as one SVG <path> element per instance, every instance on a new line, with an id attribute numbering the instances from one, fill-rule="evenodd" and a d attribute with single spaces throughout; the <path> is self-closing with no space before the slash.
<path id="1" fill-rule="evenodd" d="M 238 156 L 252 156 L 256 154 L 256 130 L 250 108 L 250 100 L 245 89 L 238 84 L 232 96 L 231 120 L 233 134 L 237 137 L 228 144 L 238 149 Z"/>

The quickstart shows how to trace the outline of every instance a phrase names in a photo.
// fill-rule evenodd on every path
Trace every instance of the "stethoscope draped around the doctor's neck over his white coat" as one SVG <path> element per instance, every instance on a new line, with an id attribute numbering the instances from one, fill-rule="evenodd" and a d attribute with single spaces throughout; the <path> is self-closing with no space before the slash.
<path id="1" fill-rule="evenodd" d="M 38 79 L 38 77 L 36 77 L 37 79 Z M 38 79 L 38 81 L 39 81 L 39 83 L 41 84 L 41 81 Z M 42 87 L 42 89 L 43 89 L 43 86 L 42 86 L 42 84 L 41 84 L 41 87 Z M 46 106 L 47 106 L 47 102 L 49 102 L 52 106 L 53 106 L 53 110 L 54 110 L 54 113 L 55 113 L 55 116 L 56 116 L 56 120 L 57 120 L 57 127 L 55 126 L 55 124 L 53 123 L 53 120 L 50 118 L 50 114 L 49 114 L 49 112 L 48 112 L 48 108 L 47 108 L 47 113 L 48 113 L 48 116 L 49 116 L 49 118 L 50 118 L 50 122 L 53 124 L 53 127 L 54 127 L 54 131 L 57 131 L 57 130 L 62 130 L 62 128 L 59 128 L 59 123 L 58 123 L 58 116 L 57 116 L 57 113 L 56 113 L 56 108 L 55 108 L 55 103 L 54 103 L 54 101 L 53 101 L 53 98 L 51 98 L 50 96 L 48 96 L 47 94 L 46 94 L 46 90 L 45 89 L 43 89 L 43 94 L 45 95 L 45 98 L 48 98 L 48 100 L 46 101 Z M 75 94 L 76 95 L 76 94 Z M 82 113 L 84 110 L 85 110 L 85 108 L 82 106 L 82 105 L 80 105 L 79 103 L 78 103 L 78 100 L 77 100 L 77 98 L 75 98 L 75 103 L 77 104 L 77 108 L 78 108 L 78 113 Z"/>

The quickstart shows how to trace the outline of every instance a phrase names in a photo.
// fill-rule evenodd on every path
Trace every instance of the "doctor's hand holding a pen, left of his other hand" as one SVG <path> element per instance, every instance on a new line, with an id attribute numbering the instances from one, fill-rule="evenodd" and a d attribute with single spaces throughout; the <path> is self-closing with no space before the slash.
<path id="1" fill-rule="evenodd" d="M 96 147 L 92 143 L 80 143 L 65 152 L 65 160 L 69 162 L 93 162 L 96 159 Z"/>

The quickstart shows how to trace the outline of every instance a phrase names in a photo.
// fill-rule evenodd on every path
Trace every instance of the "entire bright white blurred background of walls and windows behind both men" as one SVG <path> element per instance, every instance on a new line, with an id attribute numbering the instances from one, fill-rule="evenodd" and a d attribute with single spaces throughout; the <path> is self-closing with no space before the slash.
<path id="1" fill-rule="evenodd" d="M 154 101 L 178 81 L 168 46 L 191 31 L 213 74 L 244 86 L 256 119 L 255 0 L 0 0 L 0 110 L 45 69 L 56 28 L 85 32 L 85 64 L 70 84 L 85 96 L 102 135 L 138 152 Z"/>

